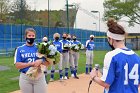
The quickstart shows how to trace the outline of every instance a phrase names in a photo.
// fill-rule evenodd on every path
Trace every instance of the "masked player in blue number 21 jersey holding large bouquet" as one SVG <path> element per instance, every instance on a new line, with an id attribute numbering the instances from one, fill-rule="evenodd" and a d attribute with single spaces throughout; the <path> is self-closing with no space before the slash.
<path id="1" fill-rule="evenodd" d="M 30 67 L 39 67 L 45 62 L 37 57 L 37 47 L 34 44 L 36 33 L 33 28 L 25 31 L 26 44 L 18 47 L 15 52 L 15 66 L 19 69 L 19 86 L 22 93 L 46 93 L 46 80 L 44 73 L 38 79 L 32 80 L 26 75 Z"/>

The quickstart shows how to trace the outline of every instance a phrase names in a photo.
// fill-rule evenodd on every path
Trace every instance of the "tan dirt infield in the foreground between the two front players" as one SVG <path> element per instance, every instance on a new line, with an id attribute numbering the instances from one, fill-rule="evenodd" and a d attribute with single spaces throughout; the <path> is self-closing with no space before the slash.
<path id="1" fill-rule="evenodd" d="M 62 82 L 50 82 L 47 87 L 47 93 L 88 93 L 89 75 L 81 74 L 80 79 L 70 78 Z M 11 93 L 21 93 L 20 90 Z M 92 83 L 89 93 L 103 93 L 103 87 Z"/>

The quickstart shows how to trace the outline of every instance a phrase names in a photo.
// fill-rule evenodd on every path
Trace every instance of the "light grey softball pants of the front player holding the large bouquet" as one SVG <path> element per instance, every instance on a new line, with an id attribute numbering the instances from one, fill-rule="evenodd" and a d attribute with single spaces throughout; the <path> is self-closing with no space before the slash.
<path id="1" fill-rule="evenodd" d="M 26 74 L 21 73 L 19 86 L 22 93 L 47 93 L 44 74 L 38 80 L 31 80 Z"/>

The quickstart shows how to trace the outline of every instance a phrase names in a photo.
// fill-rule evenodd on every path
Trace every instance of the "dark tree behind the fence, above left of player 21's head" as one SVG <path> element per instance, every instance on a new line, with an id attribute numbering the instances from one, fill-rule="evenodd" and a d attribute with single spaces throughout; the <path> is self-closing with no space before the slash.
<path id="1" fill-rule="evenodd" d="M 24 23 L 24 21 L 29 19 L 29 6 L 27 5 L 26 0 L 15 0 L 12 4 L 11 11 L 15 16 L 15 19 L 20 19 L 17 23 Z"/>

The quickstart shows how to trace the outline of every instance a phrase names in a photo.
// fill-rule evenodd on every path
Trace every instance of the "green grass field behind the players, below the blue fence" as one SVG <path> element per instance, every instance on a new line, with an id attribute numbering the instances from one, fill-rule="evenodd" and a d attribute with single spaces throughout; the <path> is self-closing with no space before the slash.
<path id="1" fill-rule="evenodd" d="M 94 64 L 98 63 L 103 66 L 104 55 L 107 51 L 94 51 Z M 140 51 L 136 51 L 140 55 Z M 85 72 L 85 53 L 80 53 L 78 74 Z M 18 80 L 11 80 L 11 78 L 19 76 L 18 70 L 14 66 L 14 57 L 0 57 L 0 65 L 10 67 L 10 70 L 0 71 L 0 93 L 9 93 L 11 91 L 19 90 Z M 50 76 L 47 77 L 49 80 Z M 59 74 L 55 74 L 55 79 L 59 78 Z"/>

